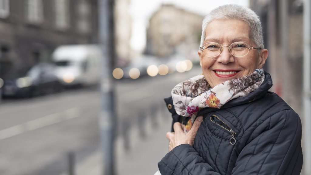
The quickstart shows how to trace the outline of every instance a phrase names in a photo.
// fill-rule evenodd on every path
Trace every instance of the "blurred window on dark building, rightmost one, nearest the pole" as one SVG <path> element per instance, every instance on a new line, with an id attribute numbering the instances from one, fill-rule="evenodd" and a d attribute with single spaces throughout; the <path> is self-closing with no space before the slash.
<path id="1" fill-rule="evenodd" d="M 91 5 L 87 0 L 79 0 L 77 5 L 77 28 L 82 33 L 91 31 Z"/>

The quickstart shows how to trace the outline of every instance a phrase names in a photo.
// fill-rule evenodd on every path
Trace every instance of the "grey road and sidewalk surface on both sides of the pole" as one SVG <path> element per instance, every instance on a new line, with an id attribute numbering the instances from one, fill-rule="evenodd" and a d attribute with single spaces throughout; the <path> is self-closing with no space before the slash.
<path id="1" fill-rule="evenodd" d="M 177 83 L 199 73 L 201 68 L 194 67 L 185 73 L 116 81 L 119 174 L 156 172 L 157 162 L 168 151 L 165 133 L 171 125 L 163 98 Z M 99 110 L 97 87 L 3 101 L 0 174 L 66 174 L 70 152 L 77 174 L 100 174 Z"/>

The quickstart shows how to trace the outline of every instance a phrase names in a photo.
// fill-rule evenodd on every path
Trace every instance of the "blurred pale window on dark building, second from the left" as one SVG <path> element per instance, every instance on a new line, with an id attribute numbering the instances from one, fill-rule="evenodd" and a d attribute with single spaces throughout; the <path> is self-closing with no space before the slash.
<path id="1" fill-rule="evenodd" d="M 41 23 L 43 21 L 42 0 L 27 0 L 27 21 L 30 23 Z"/>

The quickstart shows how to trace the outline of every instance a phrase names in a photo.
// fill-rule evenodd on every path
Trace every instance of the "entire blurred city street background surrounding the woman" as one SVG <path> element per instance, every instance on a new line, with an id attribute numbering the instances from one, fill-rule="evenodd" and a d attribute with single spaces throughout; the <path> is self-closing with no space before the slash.
<path id="1" fill-rule="evenodd" d="M 202 73 L 202 21 L 232 3 L 260 18 L 269 91 L 300 116 L 311 174 L 311 1 L 0 0 L 0 175 L 153 175 L 164 98 Z"/>

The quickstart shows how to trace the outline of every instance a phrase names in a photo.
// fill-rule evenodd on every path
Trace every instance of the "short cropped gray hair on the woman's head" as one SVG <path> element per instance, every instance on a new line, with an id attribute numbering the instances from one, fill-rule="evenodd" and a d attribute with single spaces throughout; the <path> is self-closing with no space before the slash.
<path id="1" fill-rule="evenodd" d="M 263 36 L 262 36 L 262 26 L 259 20 L 258 15 L 251 9 L 243 7 L 236 4 L 227 4 L 219 6 L 212 10 L 202 22 L 202 36 L 200 47 L 203 46 L 206 27 L 207 25 L 216 19 L 221 20 L 232 20 L 237 19 L 244 21 L 248 24 L 250 28 L 250 39 L 255 43 L 256 47 L 264 48 L 263 45 Z M 258 50 L 259 51 L 259 50 Z M 259 51 L 260 52 L 260 51 Z"/>

